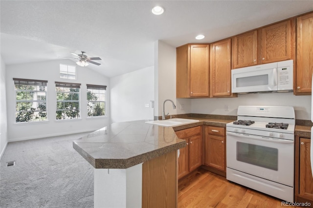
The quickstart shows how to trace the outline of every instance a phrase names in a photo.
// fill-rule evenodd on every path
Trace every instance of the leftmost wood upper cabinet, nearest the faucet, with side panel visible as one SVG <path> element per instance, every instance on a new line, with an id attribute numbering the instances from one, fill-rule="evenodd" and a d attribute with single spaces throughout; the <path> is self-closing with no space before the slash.
<path id="1" fill-rule="evenodd" d="M 209 44 L 176 48 L 176 97 L 209 97 Z"/>

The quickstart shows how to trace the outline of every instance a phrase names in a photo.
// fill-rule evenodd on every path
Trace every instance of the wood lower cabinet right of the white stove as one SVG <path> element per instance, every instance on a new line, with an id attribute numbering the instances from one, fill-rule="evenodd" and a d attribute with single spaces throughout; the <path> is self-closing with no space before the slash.
<path id="1" fill-rule="evenodd" d="M 295 190 L 294 201 L 313 205 L 313 177 L 310 161 L 311 139 L 295 138 Z"/>

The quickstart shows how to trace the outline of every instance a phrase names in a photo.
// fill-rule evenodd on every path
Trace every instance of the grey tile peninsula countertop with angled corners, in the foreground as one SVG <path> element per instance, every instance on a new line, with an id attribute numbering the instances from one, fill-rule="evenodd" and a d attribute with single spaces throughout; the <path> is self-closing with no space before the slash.
<path id="1" fill-rule="evenodd" d="M 113 123 L 73 141 L 94 168 L 125 169 L 186 146 L 172 127 L 145 121 Z"/>

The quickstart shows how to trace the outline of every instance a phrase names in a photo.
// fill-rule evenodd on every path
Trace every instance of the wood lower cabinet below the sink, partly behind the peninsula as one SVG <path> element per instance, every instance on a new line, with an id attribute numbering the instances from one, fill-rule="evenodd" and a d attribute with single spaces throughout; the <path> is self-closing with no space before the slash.
<path id="1" fill-rule="evenodd" d="M 186 140 L 187 146 L 179 149 L 178 179 L 202 165 L 202 126 L 176 131 L 179 139 Z"/>

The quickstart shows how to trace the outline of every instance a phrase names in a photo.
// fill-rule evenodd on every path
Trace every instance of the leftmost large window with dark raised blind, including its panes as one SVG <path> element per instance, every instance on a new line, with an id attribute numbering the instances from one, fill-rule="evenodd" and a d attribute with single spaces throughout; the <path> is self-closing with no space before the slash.
<path id="1" fill-rule="evenodd" d="M 13 78 L 15 85 L 15 122 L 46 121 L 47 82 Z"/>

